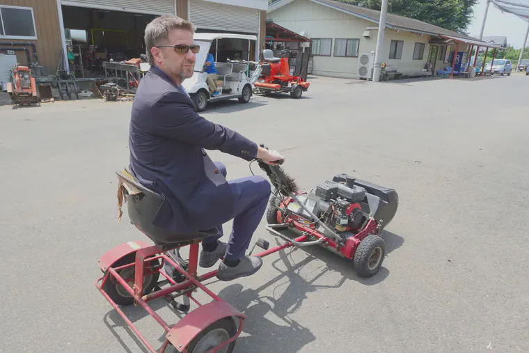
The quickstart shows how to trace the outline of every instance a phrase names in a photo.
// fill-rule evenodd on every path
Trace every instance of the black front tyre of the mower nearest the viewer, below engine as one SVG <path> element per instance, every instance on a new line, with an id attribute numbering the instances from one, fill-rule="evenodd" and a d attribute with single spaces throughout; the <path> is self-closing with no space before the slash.
<path id="1" fill-rule="evenodd" d="M 358 276 L 371 277 L 377 274 L 385 255 L 386 243 L 384 239 L 374 234 L 365 237 L 354 253 L 354 266 Z"/>

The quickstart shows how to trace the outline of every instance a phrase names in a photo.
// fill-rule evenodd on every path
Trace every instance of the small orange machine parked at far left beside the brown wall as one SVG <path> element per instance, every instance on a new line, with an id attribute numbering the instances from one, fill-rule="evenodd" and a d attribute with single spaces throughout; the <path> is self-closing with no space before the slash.
<path id="1" fill-rule="evenodd" d="M 40 104 L 35 78 L 27 66 L 15 65 L 12 70 L 11 82 L 7 84 L 8 94 L 14 104 Z"/>

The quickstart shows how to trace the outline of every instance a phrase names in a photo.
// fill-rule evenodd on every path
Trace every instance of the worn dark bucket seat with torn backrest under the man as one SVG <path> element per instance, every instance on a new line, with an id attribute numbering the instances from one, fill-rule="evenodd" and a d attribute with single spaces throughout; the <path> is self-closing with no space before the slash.
<path id="1" fill-rule="evenodd" d="M 118 207 L 119 217 L 123 212 L 121 205 L 123 201 L 128 202 L 127 211 L 129 219 L 136 228 L 147 235 L 155 244 L 162 249 L 173 249 L 179 246 L 191 244 L 195 240 L 205 237 L 220 235 L 216 228 L 212 230 L 200 230 L 194 233 L 176 233 L 159 226 L 155 226 L 153 221 L 158 213 L 161 204 L 165 201 L 165 196 L 156 193 L 141 185 L 127 170 L 116 173 L 118 175 Z"/>

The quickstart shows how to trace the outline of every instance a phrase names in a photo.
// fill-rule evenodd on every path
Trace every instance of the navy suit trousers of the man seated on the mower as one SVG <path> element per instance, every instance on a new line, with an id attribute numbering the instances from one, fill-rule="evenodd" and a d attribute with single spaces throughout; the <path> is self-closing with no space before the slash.
<path id="1" fill-rule="evenodd" d="M 215 165 L 226 177 L 226 166 L 221 162 L 215 162 Z M 218 210 L 218 212 L 226 212 L 226 222 L 233 219 L 225 258 L 226 260 L 239 260 L 244 257 L 246 249 L 250 246 L 252 235 L 259 226 L 264 211 L 267 210 L 271 189 L 268 180 L 257 175 L 229 180 L 228 184 L 237 200 L 234 210 L 229 213 L 226 210 Z M 222 225 L 217 228 L 221 235 L 207 237 L 203 239 L 203 244 L 214 244 L 223 236 Z"/>

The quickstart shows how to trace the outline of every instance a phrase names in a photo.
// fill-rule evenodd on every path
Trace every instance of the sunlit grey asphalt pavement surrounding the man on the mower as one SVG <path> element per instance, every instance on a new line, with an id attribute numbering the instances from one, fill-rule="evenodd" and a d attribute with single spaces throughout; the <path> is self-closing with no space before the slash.
<path id="1" fill-rule="evenodd" d="M 300 100 L 254 96 L 203 115 L 283 152 L 303 189 L 337 173 L 395 188 L 387 256 L 361 279 L 325 249 L 289 249 L 254 276 L 210 281 L 248 315 L 235 352 L 529 352 L 529 78 L 310 84 Z M 146 352 L 94 286 L 105 251 L 147 240 L 117 221 L 131 107 L 0 107 L 0 352 Z M 228 178 L 250 173 L 212 155 Z M 279 243 L 263 226 L 254 240 Z M 160 347 L 163 329 L 125 311 Z"/>

